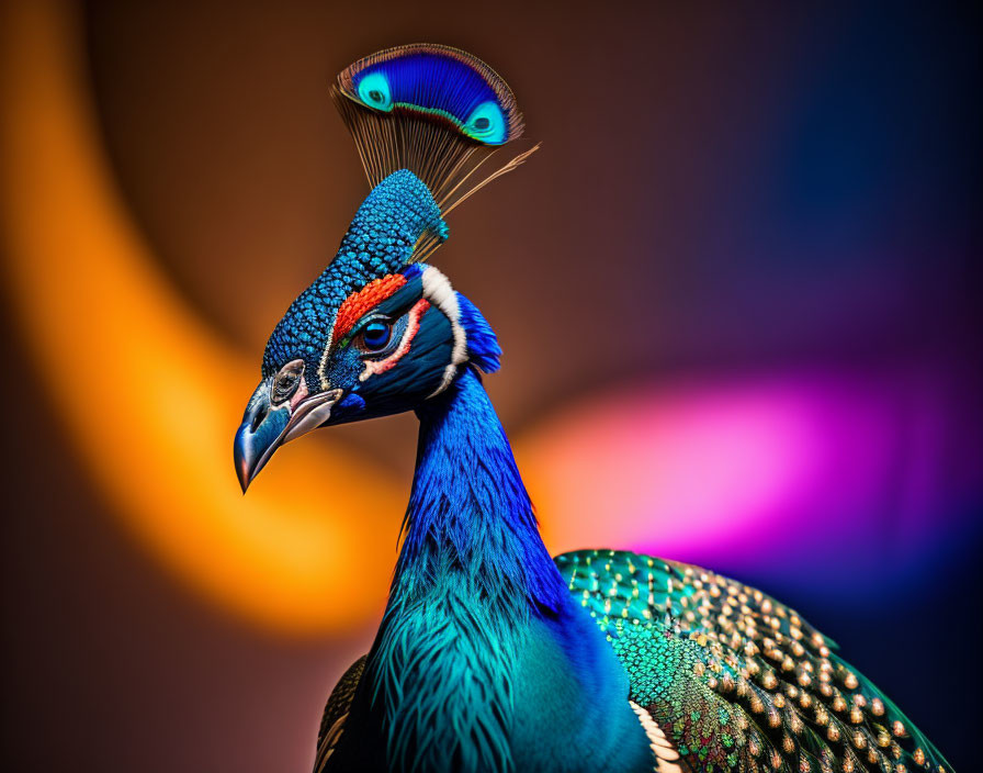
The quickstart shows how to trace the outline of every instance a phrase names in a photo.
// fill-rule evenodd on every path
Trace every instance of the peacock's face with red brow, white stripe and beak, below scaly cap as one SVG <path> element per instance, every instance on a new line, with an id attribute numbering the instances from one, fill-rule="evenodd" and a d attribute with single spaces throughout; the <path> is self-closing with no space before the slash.
<path id="1" fill-rule="evenodd" d="M 330 305 L 312 285 L 270 337 L 263 378 L 236 434 L 242 490 L 284 442 L 317 427 L 414 410 L 447 389 L 468 359 L 489 370 L 497 355 L 477 310 L 432 266 L 385 273 Z"/>

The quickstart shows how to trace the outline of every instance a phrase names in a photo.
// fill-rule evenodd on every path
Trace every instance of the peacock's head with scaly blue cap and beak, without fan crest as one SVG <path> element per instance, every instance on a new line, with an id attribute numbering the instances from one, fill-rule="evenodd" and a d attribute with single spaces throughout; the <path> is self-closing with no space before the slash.
<path id="1" fill-rule="evenodd" d="M 291 304 L 235 439 L 242 491 L 276 449 L 317 427 L 421 406 L 462 368 L 498 368 L 495 334 L 421 246 L 447 238 L 428 188 L 389 175 L 355 214 L 337 256 Z"/>

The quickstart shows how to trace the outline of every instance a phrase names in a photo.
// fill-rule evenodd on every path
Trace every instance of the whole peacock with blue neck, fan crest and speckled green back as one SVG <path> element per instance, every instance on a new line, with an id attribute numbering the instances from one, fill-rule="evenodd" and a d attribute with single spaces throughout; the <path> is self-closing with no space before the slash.
<path id="1" fill-rule="evenodd" d="M 550 557 L 482 382 L 496 335 L 427 262 L 448 213 L 539 146 L 499 156 L 522 135 L 515 97 L 453 47 L 382 51 L 331 92 L 371 192 L 267 344 L 236 470 L 245 493 L 317 427 L 414 411 L 420 429 L 385 613 L 328 698 L 315 770 L 950 771 L 761 591 L 619 550 Z"/>

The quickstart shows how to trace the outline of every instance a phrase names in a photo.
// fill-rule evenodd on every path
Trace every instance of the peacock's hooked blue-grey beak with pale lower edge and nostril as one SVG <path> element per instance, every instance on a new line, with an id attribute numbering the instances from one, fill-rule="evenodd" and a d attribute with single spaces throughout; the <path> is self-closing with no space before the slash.
<path id="1" fill-rule="evenodd" d="M 272 378 L 260 381 L 236 432 L 233 456 L 244 494 L 276 449 L 327 422 L 331 406 L 341 396 L 337 389 L 313 395 L 304 391 L 294 400 L 273 405 L 271 385 Z"/>

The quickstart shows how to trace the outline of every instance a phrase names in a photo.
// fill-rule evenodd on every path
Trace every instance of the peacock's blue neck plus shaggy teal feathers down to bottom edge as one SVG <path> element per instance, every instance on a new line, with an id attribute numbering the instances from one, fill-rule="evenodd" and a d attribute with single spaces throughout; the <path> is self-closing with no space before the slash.
<path id="1" fill-rule="evenodd" d="M 406 539 L 353 714 L 388 769 L 508 771 L 516 662 L 530 626 L 569 608 L 566 584 L 477 374 L 418 415 Z"/>

